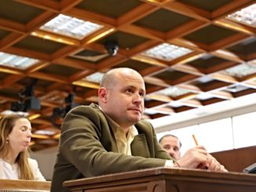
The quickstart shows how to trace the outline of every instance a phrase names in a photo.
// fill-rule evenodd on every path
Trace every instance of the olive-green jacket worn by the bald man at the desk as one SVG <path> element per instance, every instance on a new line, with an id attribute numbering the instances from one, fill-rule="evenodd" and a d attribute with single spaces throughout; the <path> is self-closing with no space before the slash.
<path id="1" fill-rule="evenodd" d="M 118 126 L 96 104 L 71 110 L 61 128 L 51 191 L 68 192 L 62 185 L 69 179 L 163 167 L 171 159 L 148 121 L 135 125 L 138 135 L 131 143 L 132 156 L 119 154 L 115 143 Z"/>

